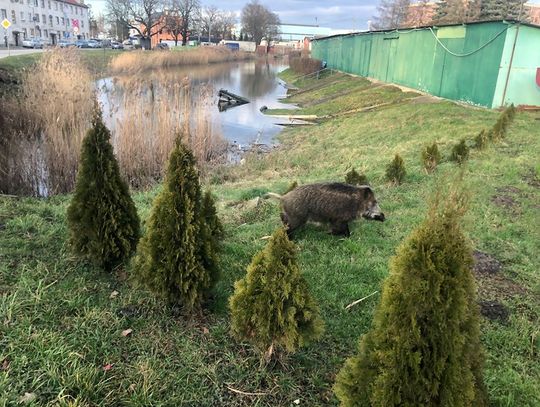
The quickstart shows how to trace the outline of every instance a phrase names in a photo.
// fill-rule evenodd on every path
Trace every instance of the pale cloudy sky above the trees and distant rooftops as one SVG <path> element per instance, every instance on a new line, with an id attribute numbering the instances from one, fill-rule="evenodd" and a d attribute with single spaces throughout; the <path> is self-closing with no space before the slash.
<path id="1" fill-rule="evenodd" d="M 248 0 L 202 0 L 203 6 L 235 11 L 240 15 Z M 105 0 L 88 0 L 95 14 L 103 12 Z M 282 23 L 317 24 L 334 29 L 367 29 L 367 21 L 376 12 L 379 0 L 261 0 L 260 3 L 279 15 Z"/>

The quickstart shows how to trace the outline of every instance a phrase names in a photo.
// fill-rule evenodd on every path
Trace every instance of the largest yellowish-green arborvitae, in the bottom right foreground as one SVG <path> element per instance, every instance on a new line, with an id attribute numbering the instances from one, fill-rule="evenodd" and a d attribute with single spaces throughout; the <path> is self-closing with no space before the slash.
<path id="1" fill-rule="evenodd" d="M 342 406 L 487 405 L 464 199 L 442 201 L 390 262 L 372 328 L 337 376 Z"/>

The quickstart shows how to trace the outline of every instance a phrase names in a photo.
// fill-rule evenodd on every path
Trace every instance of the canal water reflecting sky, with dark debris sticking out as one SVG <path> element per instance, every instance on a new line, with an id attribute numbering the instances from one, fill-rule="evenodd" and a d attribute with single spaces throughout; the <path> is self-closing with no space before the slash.
<path id="1" fill-rule="evenodd" d="M 181 82 L 189 78 L 193 87 L 192 94 L 199 95 L 199 87 L 205 87 L 210 98 L 210 108 L 213 127 L 218 128 L 230 144 L 238 150 L 249 149 L 252 145 L 271 146 L 276 143 L 275 137 L 283 130 L 283 119 L 269 117 L 261 112 L 261 108 L 292 109 L 294 106 L 280 102 L 287 89 L 277 74 L 286 68 L 283 62 L 251 60 L 234 63 L 219 63 L 205 66 L 191 66 L 159 71 L 148 74 L 157 85 L 152 85 L 152 92 L 158 92 L 160 83 L 171 81 Z M 120 78 L 121 79 L 121 78 Z M 115 117 L 122 115 L 122 83 L 119 78 L 105 78 L 98 82 L 98 97 L 104 111 L 114 112 Z M 166 89 L 167 86 L 163 85 Z M 218 109 L 218 92 L 225 89 L 236 95 L 247 98 L 250 103 L 229 107 L 225 111 Z M 165 90 L 166 92 L 166 90 Z M 163 93 L 163 90 L 162 90 Z M 133 103 L 144 98 L 133 98 Z M 122 107 L 123 106 L 123 107 Z M 119 111 L 120 110 L 120 111 Z M 111 115 L 112 116 L 112 115 Z M 108 123 L 114 128 L 114 123 Z"/>

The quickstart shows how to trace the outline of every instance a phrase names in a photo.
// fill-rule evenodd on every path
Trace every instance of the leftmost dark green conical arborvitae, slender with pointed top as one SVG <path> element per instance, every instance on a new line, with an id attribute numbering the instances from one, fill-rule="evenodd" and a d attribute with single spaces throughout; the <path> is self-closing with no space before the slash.
<path id="1" fill-rule="evenodd" d="M 139 218 L 96 107 L 81 149 L 75 193 L 67 210 L 74 252 L 110 270 L 129 258 L 139 240 Z"/>

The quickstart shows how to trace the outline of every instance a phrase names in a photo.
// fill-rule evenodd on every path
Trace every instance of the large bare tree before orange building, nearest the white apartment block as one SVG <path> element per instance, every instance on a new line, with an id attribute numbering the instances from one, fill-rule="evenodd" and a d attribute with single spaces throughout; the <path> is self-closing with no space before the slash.
<path id="1" fill-rule="evenodd" d="M 134 29 L 143 38 L 150 39 L 158 33 L 154 28 L 160 24 L 158 11 L 162 9 L 162 3 L 162 0 L 107 0 L 107 14 L 109 21 Z"/>

